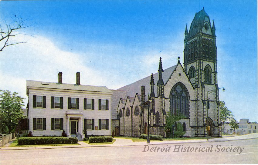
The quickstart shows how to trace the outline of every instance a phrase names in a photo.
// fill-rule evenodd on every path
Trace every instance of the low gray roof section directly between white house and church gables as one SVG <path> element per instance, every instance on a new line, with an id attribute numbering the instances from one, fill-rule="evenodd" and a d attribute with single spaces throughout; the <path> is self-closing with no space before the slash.
<path id="1" fill-rule="evenodd" d="M 111 110 L 112 110 L 112 119 L 117 119 L 117 107 L 119 104 L 120 98 L 124 98 L 124 95 L 126 94 L 126 91 L 121 90 L 111 90 L 113 92 L 112 94 L 112 104 L 111 104 Z"/>

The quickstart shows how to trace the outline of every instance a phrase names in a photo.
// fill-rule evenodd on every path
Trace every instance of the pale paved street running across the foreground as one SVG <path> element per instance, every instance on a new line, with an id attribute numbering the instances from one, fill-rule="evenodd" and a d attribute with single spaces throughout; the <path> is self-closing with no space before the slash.
<path id="1" fill-rule="evenodd" d="M 181 146 L 178 151 L 179 145 Z M 208 152 L 211 146 L 212 151 Z M 1 150 L 1 164 L 255 164 L 258 163 L 257 146 L 256 138 L 209 143 L 154 144 L 149 145 L 150 148 L 147 152 L 143 152 L 144 145 Z M 154 152 L 153 148 L 153 152 L 150 152 L 151 147 L 156 147 L 156 151 L 158 147 L 160 149 L 158 152 Z M 164 148 L 162 149 L 162 147 Z M 188 148 L 188 152 L 181 152 L 182 147 L 185 147 L 186 150 Z M 196 152 L 191 152 L 192 147 L 201 148 L 194 148 Z M 223 149 L 223 147 L 225 148 Z M 240 151 L 240 147 L 242 151 Z M 207 150 L 207 152 L 202 152 L 202 150 Z M 216 150 L 220 151 L 216 152 Z M 221 150 L 225 151 L 221 152 Z"/>

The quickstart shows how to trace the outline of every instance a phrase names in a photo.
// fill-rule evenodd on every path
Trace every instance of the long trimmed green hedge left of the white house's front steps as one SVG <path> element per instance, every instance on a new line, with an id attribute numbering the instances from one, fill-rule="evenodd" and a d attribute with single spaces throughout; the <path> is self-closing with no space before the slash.
<path id="1" fill-rule="evenodd" d="M 76 143 L 78 143 L 76 137 L 21 137 L 18 139 L 19 145 Z"/>

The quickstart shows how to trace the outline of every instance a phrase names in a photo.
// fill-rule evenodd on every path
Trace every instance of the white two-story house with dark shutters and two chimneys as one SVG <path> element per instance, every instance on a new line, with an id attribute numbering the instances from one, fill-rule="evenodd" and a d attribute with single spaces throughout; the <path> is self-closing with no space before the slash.
<path id="1" fill-rule="evenodd" d="M 58 83 L 27 80 L 29 97 L 28 125 L 33 136 L 111 135 L 111 97 L 107 87 L 63 84 L 62 72 Z"/>

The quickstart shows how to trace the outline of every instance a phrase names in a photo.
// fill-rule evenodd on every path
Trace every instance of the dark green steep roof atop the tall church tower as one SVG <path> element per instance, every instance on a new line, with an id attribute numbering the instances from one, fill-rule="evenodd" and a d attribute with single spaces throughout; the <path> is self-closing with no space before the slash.
<path id="1" fill-rule="evenodd" d="M 197 34 L 198 31 L 202 29 L 202 27 L 204 26 L 205 17 L 209 18 L 209 15 L 205 12 L 204 8 L 201 11 L 199 11 L 198 13 L 195 13 L 195 17 L 194 17 L 194 19 L 191 23 L 190 29 L 189 29 L 188 37 L 191 37 L 191 36 Z M 209 18 L 209 21 L 210 21 L 210 18 Z"/>

